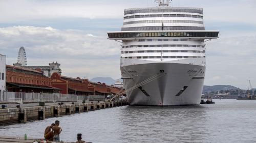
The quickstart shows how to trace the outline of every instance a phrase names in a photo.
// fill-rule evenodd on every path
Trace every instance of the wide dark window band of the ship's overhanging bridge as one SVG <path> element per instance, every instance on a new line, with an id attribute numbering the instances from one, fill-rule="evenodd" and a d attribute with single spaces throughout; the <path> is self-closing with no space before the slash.
<path id="1" fill-rule="evenodd" d="M 219 32 L 143 32 L 143 33 L 108 33 L 109 38 L 132 37 L 218 37 Z"/>

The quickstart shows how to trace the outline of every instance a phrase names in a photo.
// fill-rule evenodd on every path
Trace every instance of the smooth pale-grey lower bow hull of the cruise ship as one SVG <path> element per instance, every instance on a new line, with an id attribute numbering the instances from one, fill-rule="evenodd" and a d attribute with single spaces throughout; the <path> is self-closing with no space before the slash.
<path id="1" fill-rule="evenodd" d="M 136 84 L 159 74 L 160 70 L 163 70 L 166 75 L 142 85 L 141 89 L 136 88 L 126 93 L 131 105 L 176 106 L 200 104 L 205 66 L 168 62 L 123 66 L 121 67 L 122 72 L 131 73 L 129 74 L 131 79 L 124 79 L 124 88 L 128 90 Z M 123 76 L 127 76 L 127 74 Z"/>

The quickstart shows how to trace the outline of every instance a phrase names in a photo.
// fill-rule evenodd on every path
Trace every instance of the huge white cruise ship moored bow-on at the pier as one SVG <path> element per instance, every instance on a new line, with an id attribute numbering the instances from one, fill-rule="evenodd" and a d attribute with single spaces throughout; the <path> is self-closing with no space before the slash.
<path id="1" fill-rule="evenodd" d="M 200 104 L 205 76 L 205 44 L 219 31 L 205 30 L 202 8 L 124 10 L 121 31 L 108 32 L 121 44 L 120 70 L 131 105 Z"/>

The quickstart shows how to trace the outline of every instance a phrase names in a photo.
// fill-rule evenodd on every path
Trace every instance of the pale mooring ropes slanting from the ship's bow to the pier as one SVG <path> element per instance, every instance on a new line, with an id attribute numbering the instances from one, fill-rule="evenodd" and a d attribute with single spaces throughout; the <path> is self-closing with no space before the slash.
<path id="1" fill-rule="evenodd" d="M 132 88 L 130 88 L 130 89 L 127 89 L 127 90 L 123 91 L 123 88 L 122 88 L 118 94 L 116 94 L 115 96 L 113 96 L 112 98 L 110 98 L 110 99 L 108 99 L 108 100 L 106 100 L 106 101 L 112 101 L 112 100 L 114 100 L 115 98 L 120 98 L 125 92 L 131 92 L 131 91 L 133 91 L 133 90 L 135 90 L 135 89 L 141 87 L 141 86 L 144 85 L 144 84 L 150 83 L 150 82 L 152 82 L 152 81 L 158 79 L 159 77 L 166 76 L 166 75 L 167 75 L 167 74 L 155 74 L 155 75 L 151 76 L 150 78 L 147 78 L 147 79 L 145 79 L 144 81 L 142 81 L 142 82 L 140 82 L 140 83 L 134 85 L 134 86 L 133 86 Z M 131 78 L 131 79 L 132 79 L 132 78 Z"/>

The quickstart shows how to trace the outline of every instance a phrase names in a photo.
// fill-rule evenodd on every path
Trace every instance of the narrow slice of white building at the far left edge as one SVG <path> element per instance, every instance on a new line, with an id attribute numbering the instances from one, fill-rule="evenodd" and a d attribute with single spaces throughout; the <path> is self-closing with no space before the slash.
<path id="1" fill-rule="evenodd" d="M 3 91 L 6 90 L 6 56 L 0 54 L 0 101 L 2 100 Z"/>

